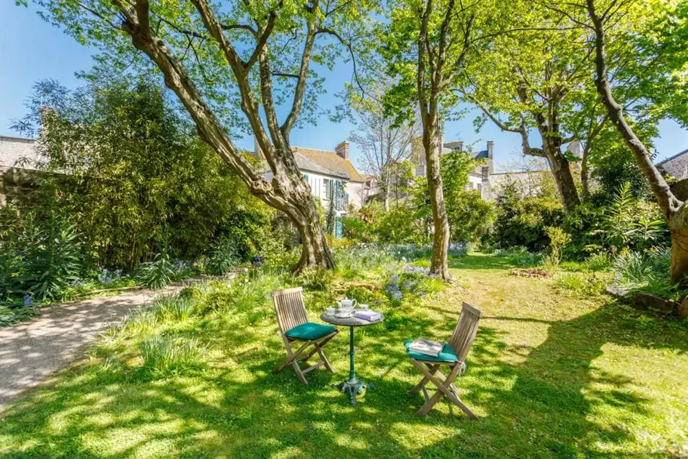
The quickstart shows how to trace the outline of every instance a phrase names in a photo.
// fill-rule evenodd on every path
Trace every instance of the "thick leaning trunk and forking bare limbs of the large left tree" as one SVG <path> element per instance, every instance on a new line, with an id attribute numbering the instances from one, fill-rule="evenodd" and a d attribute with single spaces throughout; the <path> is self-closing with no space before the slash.
<path id="1" fill-rule="evenodd" d="M 211 32 L 213 28 L 217 28 L 215 30 L 217 35 L 224 36 L 219 31 L 219 23 L 214 23 L 215 19 L 208 4 L 205 1 L 197 1 L 195 3 L 197 3 L 197 8 L 204 16 L 206 28 Z M 158 66 L 164 76 L 165 85 L 177 94 L 189 115 L 193 118 L 199 136 L 246 183 L 252 195 L 255 195 L 269 206 L 286 213 L 297 227 L 302 245 L 301 258 L 297 266 L 294 267 L 294 273 L 299 273 L 303 268 L 309 266 L 334 268 L 334 259 L 332 259 L 332 253 L 327 246 L 327 240 L 320 225 L 320 218 L 316 211 L 310 187 L 303 180 L 289 147 L 288 132 L 299 111 L 302 98 L 295 96 L 294 101 L 299 102 L 299 106 L 296 107 L 297 104 L 295 104 L 295 107 L 292 107 L 290 116 L 288 116 L 284 125 L 279 127 L 274 110 L 270 109 L 270 104 L 268 103 L 272 96 L 269 87 L 270 82 L 265 78 L 261 78 L 264 110 L 267 113 L 268 125 L 272 136 L 272 142 L 270 142 L 260 117 L 257 115 L 259 113 L 257 100 L 253 98 L 248 87 L 246 63 L 241 65 L 235 63 L 235 65 L 241 67 L 238 76 L 237 72 L 235 72 L 242 96 L 241 109 L 251 123 L 252 130 L 261 149 L 264 151 L 265 159 L 274 174 L 272 182 L 268 182 L 264 174 L 260 170 L 254 169 L 252 164 L 244 158 L 243 154 L 231 142 L 226 129 L 215 113 L 206 105 L 199 89 L 193 83 L 180 61 L 159 37 L 152 34 L 149 26 L 147 1 L 139 1 L 136 3 L 136 7 L 136 17 L 131 15 L 133 10 L 120 8 L 120 12 L 127 17 L 127 21 L 122 22 L 122 30 L 131 36 L 133 45 L 147 54 L 151 61 Z M 306 43 L 306 50 L 310 50 L 309 43 L 312 46 L 312 39 L 314 38 L 312 23 L 309 23 L 309 30 L 310 42 Z M 223 46 L 223 50 L 227 51 L 226 45 Z M 231 51 L 233 52 L 233 50 Z M 265 58 L 265 48 L 263 48 L 260 56 L 261 76 L 264 76 L 264 74 L 270 75 L 269 64 Z M 232 64 L 231 60 L 233 58 L 238 59 L 238 56 L 233 56 L 232 54 L 226 57 L 230 64 Z M 310 51 L 304 51 L 303 59 L 308 61 L 309 57 Z M 301 71 L 307 72 L 305 69 L 306 67 L 302 63 Z M 299 84 L 305 84 L 303 81 L 305 79 L 300 78 Z M 299 90 L 302 94 L 304 89 L 303 87 L 297 87 L 297 92 Z"/>

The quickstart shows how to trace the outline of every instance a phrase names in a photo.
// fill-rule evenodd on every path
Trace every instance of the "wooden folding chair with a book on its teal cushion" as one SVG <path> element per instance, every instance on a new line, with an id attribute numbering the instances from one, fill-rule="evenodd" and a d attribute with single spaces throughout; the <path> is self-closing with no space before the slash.
<path id="1" fill-rule="evenodd" d="M 420 383 L 411 389 L 412 394 L 418 394 L 418 392 L 422 391 L 425 397 L 425 404 L 416 412 L 416 416 L 426 414 L 438 401 L 447 397 L 458 405 L 469 418 L 477 419 L 475 414 L 462 403 L 461 398 L 459 398 L 459 391 L 453 384 L 453 381 L 456 376 L 462 374 L 466 369 L 466 356 L 469 354 L 469 350 L 471 350 L 473 339 L 475 339 L 478 321 L 480 321 L 480 310 L 474 308 L 469 303 L 463 303 L 459 321 L 451 334 L 451 339 L 449 339 L 449 343 L 444 344 L 442 352 L 437 357 L 409 351 L 409 345 L 411 345 L 412 341 L 404 343 L 411 363 L 423 374 Z M 444 376 L 439 371 L 442 365 L 447 365 L 451 369 L 447 376 Z M 429 382 L 437 387 L 437 392 L 433 396 L 429 396 L 425 388 L 425 385 Z"/>

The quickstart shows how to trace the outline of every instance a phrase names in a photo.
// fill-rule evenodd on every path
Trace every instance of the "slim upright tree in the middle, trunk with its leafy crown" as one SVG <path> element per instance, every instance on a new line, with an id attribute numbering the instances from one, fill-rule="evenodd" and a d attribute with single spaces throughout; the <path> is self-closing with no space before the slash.
<path id="1" fill-rule="evenodd" d="M 430 271 L 451 279 L 447 264 L 449 222 L 440 171 L 440 138 L 444 115 L 455 105 L 452 89 L 473 44 L 475 3 L 455 0 L 398 0 L 391 2 L 392 17 L 382 40 L 390 70 L 399 83 L 387 96 L 396 113 L 408 117 L 418 103 L 422 123 L 427 186 L 433 220 Z"/>

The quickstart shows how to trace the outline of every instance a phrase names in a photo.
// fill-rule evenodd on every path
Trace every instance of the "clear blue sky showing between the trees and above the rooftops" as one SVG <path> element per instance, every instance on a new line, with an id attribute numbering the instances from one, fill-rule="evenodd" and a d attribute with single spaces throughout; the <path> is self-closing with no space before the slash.
<path id="1" fill-rule="evenodd" d="M 23 100 L 34 82 L 42 78 L 54 78 L 70 89 L 78 86 L 80 82 L 74 73 L 92 67 L 92 50 L 44 22 L 31 6 L 20 8 L 14 6 L 14 1 L 0 1 L 0 21 L 0 136 L 16 136 L 17 133 L 9 129 L 10 122 L 25 114 Z M 335 94 L 345 82 L 350 81 L 351 69 L 341 64 L 325 76 L 328 93 L 321 97 L 320 105 L 332 109 L 340 103 Z M 475 112 L 462 120 L 449 122 L 444 129 L 445 140 L 464 140 L 467 144 L 473 143 L 474 149 L 483 149 L 486 140 L 494 140 L 498 169 L 500 165 L 503 168 L 517 158 L 520 149 L 517 134 L 501 132 L 489 122 L 476 134 L 473 118 Z M 316 126 L 294 130 L 292 145 L 334 149 L 353 129 L 350 122 L 335 123 L 323 116 Z M 237 144 L 252 148 L 249 138 L 239 140 Z M 535 138 L 533 145 L 537 145 Z M 660 138 L 655 140 L 655 145 L 657 160 L 672 156 L 688 148 L 688 131 L 673 121 L 661 122 Z M 356 145 L 351 145 L 351 154 L 356 164 L 359 159 Z"/>

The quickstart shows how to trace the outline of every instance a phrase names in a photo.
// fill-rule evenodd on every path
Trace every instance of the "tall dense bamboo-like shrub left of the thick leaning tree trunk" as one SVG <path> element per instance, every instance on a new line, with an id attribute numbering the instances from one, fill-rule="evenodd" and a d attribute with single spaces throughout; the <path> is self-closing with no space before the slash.
<path id="1" fill-rule="evenodd" d="M 41 81 L 28 108 L 23 129 L 45 127 L 39 149 L 49 159 L 36 205 L 69 213 L 100 263 L 136 268 L 161 244 L 175 258 L 195 259 L 217 235 L 248 257 L 255 241 L 268 239 L 256 235 L 270 233 L 274 212 L 159 85 L 95 80 L 68 92 Z"/>

